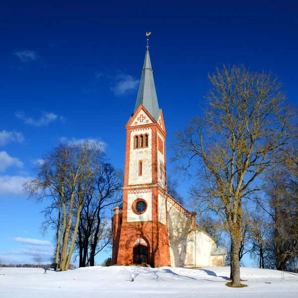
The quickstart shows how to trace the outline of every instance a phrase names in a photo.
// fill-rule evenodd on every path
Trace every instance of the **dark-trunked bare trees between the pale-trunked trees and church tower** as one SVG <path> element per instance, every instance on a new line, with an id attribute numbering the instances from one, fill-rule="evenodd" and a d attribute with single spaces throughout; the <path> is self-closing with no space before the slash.
<path id="1" fill-rule="evenodd" d="M 86 194 L 82 208 L 76 249 L 79 267 L 94 266 L 95 256 L 111 244 L 111 209 L 122 201 L 123 171 L 104 163 Z"/>

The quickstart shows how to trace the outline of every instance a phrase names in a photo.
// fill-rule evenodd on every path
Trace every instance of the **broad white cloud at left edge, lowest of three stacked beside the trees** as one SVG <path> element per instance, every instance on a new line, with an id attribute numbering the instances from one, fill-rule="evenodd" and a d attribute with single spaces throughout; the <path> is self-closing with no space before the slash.
<path id="1" fill-rule="evenodd" d="M 0 196 L 23 195 L 23 183 L 31 177 L 23 176 L 0 176 Z"/>

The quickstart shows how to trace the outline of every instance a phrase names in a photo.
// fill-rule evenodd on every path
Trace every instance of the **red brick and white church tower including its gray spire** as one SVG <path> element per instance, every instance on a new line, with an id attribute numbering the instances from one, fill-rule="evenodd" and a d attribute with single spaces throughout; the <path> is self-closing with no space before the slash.
<path id="1" fill-rule="evenodd" d="M 147 48 L 135 112 L 126 125 L 123 205 L 114 209 L 113 264 L 170 266 L 166 131 Z"/>

